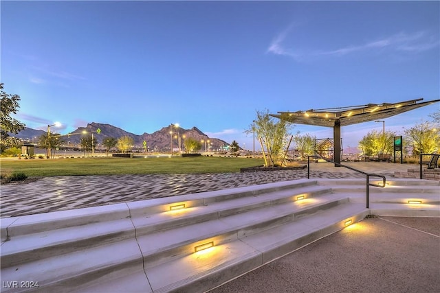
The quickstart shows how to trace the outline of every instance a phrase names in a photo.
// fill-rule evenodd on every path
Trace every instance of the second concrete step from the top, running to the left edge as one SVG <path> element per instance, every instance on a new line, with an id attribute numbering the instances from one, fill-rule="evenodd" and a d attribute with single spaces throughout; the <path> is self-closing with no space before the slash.
<path id="1" fill-rule="evenodd" d="M 300 186 L 300 185 L 298 185 Z M 22 234 L 26 231 L 32 231 L 30 225 L 19 224 L 9 227 L 12 238 L 17 239 L 14 242 L 5 242 L 2 246 L 1 268 L 10 266 L 11 263 L 22 263 L 33 261 L 45 257 L 46 255 L 61 255 L 69 253 L 78 248 L 85 249 L 96 245 L 103 245 L 111 242 L 117 242 L 122 239 L 137 237 L 146 233 L 166 230 L 179 226 L 187 226 L 206 222 L 217 218 L 223 218 L 227 215 L 243 213 L 252 209 L 261 209 L 271 205 L 282 204 L 284 202 L 293 202 L 298 195 L 303 198 L 311 198 L 328 194 L 331 189 L 318 186 L 298 187 L 291 189 L 281 189 L 267 194 L 259 194 L 252 198 L 237 197 L 228 201 L 212 201 L 212 204 L 181 209 L 177 211 L 167 211 L 145 215 L 144 213 L 135 213 L 137 217 L 123 218 L 120 220 L 92 222 L 80 226 L 68 228 L 58 228 L 52 231 L 43 231 L 32 234 Z M 114 209 L 111 209 L 114 211 Z M 87 217 L 86 217 L 87 218 Z M 105 218 L 105 217 L 104 217 Z M 52 220 L 55 220 L 54 218 Z M 21 221 L 23 222 L 23 221 Z M 25 221 L 30 223 L 29 220 Z M 36 225 L 47 224 L 47 221 L 39 222 Z M 28 227 L 25 229 L 23 227 Z M 37 230 L 47 230 L 39 228 Z M 18 236 L 16 236 L 18 235 Z M 39 239 L 35 241 L 34 239 Z"/>

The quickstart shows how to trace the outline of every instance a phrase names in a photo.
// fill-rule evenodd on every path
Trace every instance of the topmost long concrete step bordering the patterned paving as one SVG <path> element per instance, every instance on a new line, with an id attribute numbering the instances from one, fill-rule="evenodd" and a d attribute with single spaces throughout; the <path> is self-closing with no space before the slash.
<path id="1" fill-rule="evenodd" d="M 155 213 L 170 211 L 170 207 L 175 207 L 179 204 L 185 204 L 186 208 L 203 207 L 213 202 L 258 196 L 259 194 L 269 194 L 285 189 L 296 189 L 314 185 L 316 185 L 316 180 L 292 180 L 276 184 L 256 185 L 254 187 L 238 187 L 219 191 L 208 191 L 200 194 L 157 198 L 155 200 L 141 200 L 102 207 L 5 218 L 1 220 L 1 241 L 18 235 L 54 231 L 56 229 L 133 218 L 142 215 L 149 216 Z"/>

